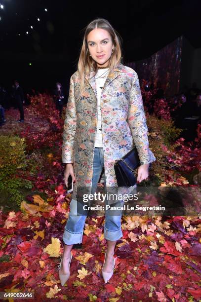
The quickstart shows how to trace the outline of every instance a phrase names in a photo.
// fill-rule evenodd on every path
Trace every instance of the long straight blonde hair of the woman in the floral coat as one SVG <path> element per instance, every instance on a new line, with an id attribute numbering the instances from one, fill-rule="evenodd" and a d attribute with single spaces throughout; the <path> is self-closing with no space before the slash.
<path id="1" fill-rule="evenodd" d="M 121 63 L 121 36 L 112 27 L 108 20 L 103 18 L 94 19 L 85 27 L 83 42 L 80 49 L 80 57 L 78 61 L 78 71 L 80 74 L 80 94 L 78 100 L 80 99 L 85 87 L 85 76 L 88 76 L 89 78 L 91 69 L 93 69 L 95 73 L 98 70 L 96 62 L 89 56 L 86 39 L 88 34 L 95 28 L 106 30 L 110 34 L 112 42 L 114 44 L 114 50 L 109 60 L 109 74 L 119 65 L 119 63 Z"/>

